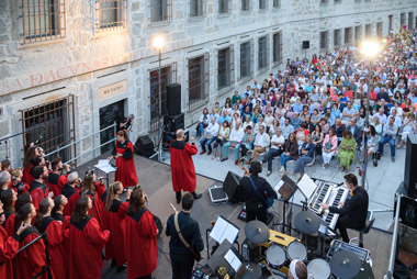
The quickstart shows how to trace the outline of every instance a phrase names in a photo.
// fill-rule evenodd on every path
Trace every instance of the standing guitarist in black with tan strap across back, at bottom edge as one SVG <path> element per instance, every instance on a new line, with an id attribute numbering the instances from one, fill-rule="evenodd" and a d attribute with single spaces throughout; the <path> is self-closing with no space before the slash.
<path id="1" fill-rule="evenodd" d="M 181 202 L 182 211 L 178 213 L 179 231 L 184 241 L 190 245 L 189 248 L 185 247 L 183 241 L 177 233 L 177 213 L 171 214 L 167 221 L 166 234 L 171 237 L 169 241 L 169 255 L 171 258 L 173 279 L 190 279 L 195 259 L 193 254 L 199 255 L 200 252 L 204 249 L 199 223 L 190 216 L 193 204 L 194 198 L 192 193 L 188 192 L 183 194 Z M 191 252 L 191 249 L 193 249 L 193 252 Z"/>

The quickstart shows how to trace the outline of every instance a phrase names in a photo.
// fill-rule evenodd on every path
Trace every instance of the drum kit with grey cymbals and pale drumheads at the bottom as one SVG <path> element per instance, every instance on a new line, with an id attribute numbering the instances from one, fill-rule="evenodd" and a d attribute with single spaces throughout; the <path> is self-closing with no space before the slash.
<path id="1" fill-rule="evenodd" d="M 308 211 L 297 213 L 294 221 L 302 234 L 317 233 L 320 225 L 320 219 Z M 262 268 L 271 274 L 269 279 L 286 278 L 290 263 L 294 259 L 306 265 L 312 279 L 357 278 L 363 271 L 361 260 L 353 252 L 337 250 L 331 258 L 318 258 L 309 255 L 300 239 L 269 230 L 259 221 L 250 221 L 245 227 L 245 235 L 252 246 L 259 247 L 259 258 L 243 264 L 236 272 L 237 278 L 260 278 Z"/>

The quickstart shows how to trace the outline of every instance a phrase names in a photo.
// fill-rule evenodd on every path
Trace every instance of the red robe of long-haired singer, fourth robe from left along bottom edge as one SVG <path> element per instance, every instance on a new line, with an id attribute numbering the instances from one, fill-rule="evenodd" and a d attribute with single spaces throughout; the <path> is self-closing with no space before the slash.
<path id="1" fill-rule="evenodd" d="M 70 222 L 66 250 L 68 279 L 99 279 L 103 269 L 101 250 L 110 233 L 101 231 L 94 217 L 87 216 L 80 223 Z"/>

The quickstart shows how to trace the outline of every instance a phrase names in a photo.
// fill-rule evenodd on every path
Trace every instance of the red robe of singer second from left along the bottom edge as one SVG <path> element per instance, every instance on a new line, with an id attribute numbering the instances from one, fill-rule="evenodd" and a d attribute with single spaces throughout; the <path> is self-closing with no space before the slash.
<path id="1" fill-rule="evenodd" d="M 19 248 L 22 248 L 33 239 L 40 236 L 36 227 L 30 226 L 19 236 Z M 32 278 L 46 267 L 45 244 L 43 239 L 35 242 L 32 246 L 18 254 L 13 259 L 14 278 Z M 47 272 L 44 272 L 40 279 L 46 279 Z"/>

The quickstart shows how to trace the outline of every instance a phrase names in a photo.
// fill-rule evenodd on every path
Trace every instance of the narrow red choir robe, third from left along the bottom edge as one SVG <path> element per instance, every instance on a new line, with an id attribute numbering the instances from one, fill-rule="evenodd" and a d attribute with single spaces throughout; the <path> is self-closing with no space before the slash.
<path id="1" fill-rule="evenodd" d="M 50 256 L 50 270 L 54 278 L 67 278 L 67 252 L 64 247 L 63 224 L 55 221 L 52 216 L 42 220 L 41 233 L 47 233 Z"/>

